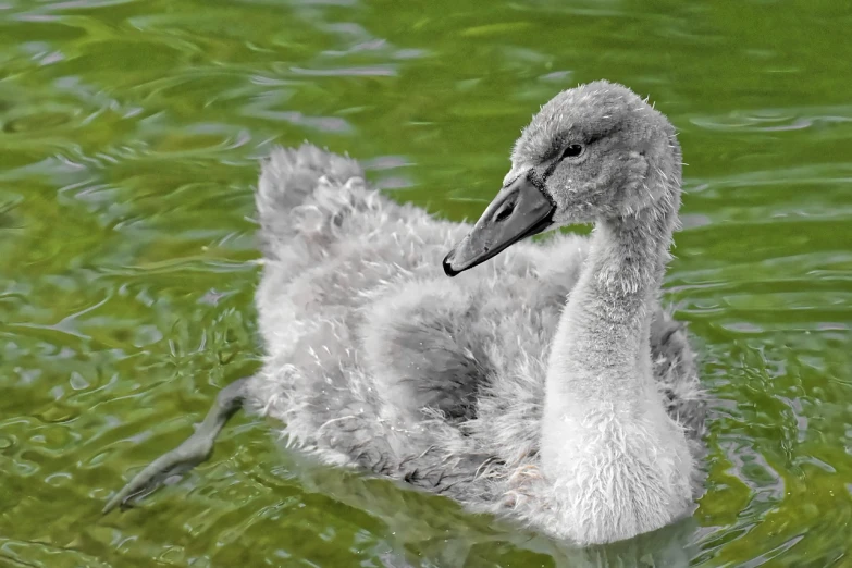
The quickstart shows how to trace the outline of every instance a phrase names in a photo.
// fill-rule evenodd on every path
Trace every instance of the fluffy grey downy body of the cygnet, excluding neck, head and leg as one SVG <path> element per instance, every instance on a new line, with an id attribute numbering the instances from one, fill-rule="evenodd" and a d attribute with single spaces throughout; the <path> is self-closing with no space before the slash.
<path id="1" fill-rule="evenodd" d="M 455 280 L 470 226 L 371 190 L 358 164 L 275 150 L 257 192 L 267 346 L 249 403 L 333 464 L 496 510 L 536 476 L 545 360 L 588 240 L 520 243 Z M 654 372 L 692 439 L 704 402 L 687 336 L 657 310 Z"/>

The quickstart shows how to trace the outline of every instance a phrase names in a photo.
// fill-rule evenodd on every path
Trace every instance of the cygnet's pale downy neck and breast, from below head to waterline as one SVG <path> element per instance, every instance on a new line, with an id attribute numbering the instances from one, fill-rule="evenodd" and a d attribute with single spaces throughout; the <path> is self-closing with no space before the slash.
<path id="1" fill-rule="evenodd" d="M 691 502 L 692 460 L 651 366 L 679 194 L 601 221 L 554 337 L 545 384 L 543 473 L 567 536 L 607 542 L 654 530 Z"/>

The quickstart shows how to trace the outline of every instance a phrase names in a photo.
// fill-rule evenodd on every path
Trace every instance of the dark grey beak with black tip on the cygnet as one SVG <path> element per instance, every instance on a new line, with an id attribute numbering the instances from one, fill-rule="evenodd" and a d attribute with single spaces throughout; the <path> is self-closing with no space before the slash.
<path id="1" fill-rule="evenodd" d="M 532 176 L 532 171 L 527 172 L 501 189 L 473 230 L 444 259 L 447 276 L 485 262 L 551 225 L 556 203 Z"/>

